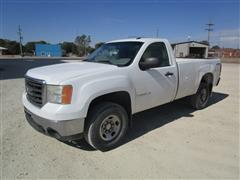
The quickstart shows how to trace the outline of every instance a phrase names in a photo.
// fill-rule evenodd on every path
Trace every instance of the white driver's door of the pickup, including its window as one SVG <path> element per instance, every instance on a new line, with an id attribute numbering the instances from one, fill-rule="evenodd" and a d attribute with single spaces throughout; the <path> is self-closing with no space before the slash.
<path id="1" fill-rule="evenodd" d="M 168 50 L 163 42 L 150 44 L 141 57 L 158 58 L 159 66 L 141 70 L 136 81 L 136 111 L 142 111 L 172 101 L 177 88 L 177 67 L 171 64 Z"/>

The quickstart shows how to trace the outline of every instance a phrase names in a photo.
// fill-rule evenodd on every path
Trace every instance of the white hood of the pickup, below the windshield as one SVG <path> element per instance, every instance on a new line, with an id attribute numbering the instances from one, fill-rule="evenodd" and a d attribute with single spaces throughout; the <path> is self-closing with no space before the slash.
<path id="1" fill-rule="evenodd" d="M 30 69 L 26 75 L 45 80 L 47 83 L 59 84 L 62 81 L 74 77 L 93 75 L 117 68 L 118 67 L 114 65 L 91 62 L 62 63 Z"/>

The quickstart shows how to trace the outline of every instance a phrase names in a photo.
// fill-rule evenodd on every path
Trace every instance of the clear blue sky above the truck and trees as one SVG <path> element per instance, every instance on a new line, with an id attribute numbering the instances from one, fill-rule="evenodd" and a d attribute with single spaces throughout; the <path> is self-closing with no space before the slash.
<path id="1" fill-rule="evenodd" d="M 0 38 L 23 43 L 74 41 L 91 35 L 96 42 L 128 37 L 167 38 L 171 43 L 207 40 L 211 45 L 239 46 L 239 0 L 0 0 Z"/>

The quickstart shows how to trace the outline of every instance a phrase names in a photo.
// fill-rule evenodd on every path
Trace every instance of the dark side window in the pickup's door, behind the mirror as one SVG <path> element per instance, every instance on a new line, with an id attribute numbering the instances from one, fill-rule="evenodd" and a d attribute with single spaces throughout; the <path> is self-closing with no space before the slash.
<path id="1" fill-rule="evenodd" d="M 143 53 L 140 61 L 151 57 L 159 59 L 159 67 L 170 66 L 167 48 L 163 42 L 150 44 Z"/>

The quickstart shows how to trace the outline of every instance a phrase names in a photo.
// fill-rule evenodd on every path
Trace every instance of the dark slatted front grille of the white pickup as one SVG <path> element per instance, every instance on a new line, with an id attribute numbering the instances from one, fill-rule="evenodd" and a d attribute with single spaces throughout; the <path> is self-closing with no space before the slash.
<path id="1" fill-rule="evenodd" d="M 44 81 L 25 77 L 27 99 L 35 106 L 41 107 L 44 102 Z"/>

